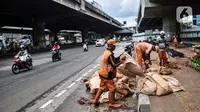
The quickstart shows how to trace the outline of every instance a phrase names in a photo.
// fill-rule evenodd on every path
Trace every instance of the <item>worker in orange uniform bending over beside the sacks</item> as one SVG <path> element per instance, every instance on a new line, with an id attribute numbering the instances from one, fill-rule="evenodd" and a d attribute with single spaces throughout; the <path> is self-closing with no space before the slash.
<path id="1" fill-rule="evenodd" d="M 144 60 L 144 64 L 146 69 L 149 68 L 149 64 L 151 65 L 151 60 L 150 60 L 150 54 L 151 51 L 157 51 L 158 52 L 158 47 L 146 43 L 146 42 L 142 42 L 142 43 L 138 43 L 136 45 L 136 54 L 137 54 L 137 60 L 138 60 L 138 64 L 142 67 L 142 59 Z M 144 70 L 145 71 L 145 70 Z"/>

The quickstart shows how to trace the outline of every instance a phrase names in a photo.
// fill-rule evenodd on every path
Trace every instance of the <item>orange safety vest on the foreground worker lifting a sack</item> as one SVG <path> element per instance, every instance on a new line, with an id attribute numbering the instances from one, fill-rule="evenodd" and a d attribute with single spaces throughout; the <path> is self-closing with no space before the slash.
<path id="1" fill-rule="evenodd" d="M 103 77 L 105 79 L 113 79 L 113 77 L 116 75 L 116 69 L 114 69 L 109 63 L 108 63 L 108 58 L 112 54 L 110 50 L 106 50 L 104 52 L 104 57 L 101 62 L 100 70 L 99 70 L 99 75 L 100 77 Z M 109 74 L 113 76 L 109 76 Z"/>

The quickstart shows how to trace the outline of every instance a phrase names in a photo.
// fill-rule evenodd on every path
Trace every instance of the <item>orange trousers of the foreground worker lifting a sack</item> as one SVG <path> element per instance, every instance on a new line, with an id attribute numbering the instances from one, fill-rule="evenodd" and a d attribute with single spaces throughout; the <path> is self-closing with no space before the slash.
<path id="1" fill-rule="evenodd" d="M 100 89 L 101 90 L 108 90 L 109 92 L 115 92 L 116 91 L 116 85 L 114 83 L 113 80 L 107 80 L 107 79 L 104 79 L 102 77 L 100 77 Z"/>

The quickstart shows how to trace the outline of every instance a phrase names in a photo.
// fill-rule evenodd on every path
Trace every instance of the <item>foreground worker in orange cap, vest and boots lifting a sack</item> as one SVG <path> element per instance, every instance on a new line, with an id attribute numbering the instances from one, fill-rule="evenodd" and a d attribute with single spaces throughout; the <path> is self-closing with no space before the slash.
<path id="1" fill-rule="evenodd" d="M 101 80 L 100 88 L 98 89 L 93 103 L 98 104 L 102 92 L 108 90 L 109 106 L 119 108 L 121 105 L 115 103 L 114 96 L 116 92 L 116 85 L 113 79 L 116 77 L 116 68 L 126 60 L 126 57 L 123 55 L 120 55 L 117 58 L 114 57 L 113 51 L 115 50 L 117 43 L 113 39 L 108 40 L 107 44 L 108 48 L 103 54 L 103 59 L 99 70 L 99 77 Z"/>

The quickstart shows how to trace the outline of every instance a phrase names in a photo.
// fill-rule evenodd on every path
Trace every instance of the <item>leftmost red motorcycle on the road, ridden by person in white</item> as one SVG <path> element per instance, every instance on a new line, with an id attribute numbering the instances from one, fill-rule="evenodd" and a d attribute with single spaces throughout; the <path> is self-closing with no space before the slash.
<path id="1" fill-rule="evenodd" d="M 12 65 L 12 72 L 14 74 L 20 73 L 22 70 L 31 70 L 33 69 L 32 58 L 30 54 L 26 54 L 25 56 L 19 56 L 18 54 L 15 56 L 15 61 Z M 26 61 L 22 61 L 26 60 Z"/>

